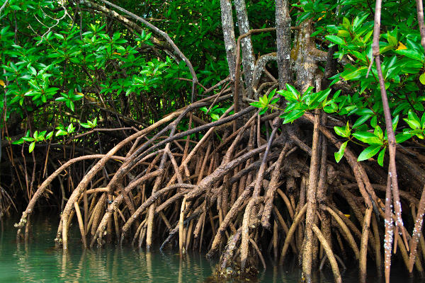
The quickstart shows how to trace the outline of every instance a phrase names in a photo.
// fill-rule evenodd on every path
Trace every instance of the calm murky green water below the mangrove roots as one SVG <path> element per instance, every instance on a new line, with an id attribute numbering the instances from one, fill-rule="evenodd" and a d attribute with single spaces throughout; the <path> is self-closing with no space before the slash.
<path id="1" fill-rule="evenodd" d="M 171 251 L 146 253 L 145 249 L 106 246 L 84 250 L 78 231 L 72 231 L 68 253 L 56 250 L 57 219 L 33 221 L 33 238 L 26 245 L 16 243 L 14 219 L 0 230 L 0 282 L 210 282 L 215 261 L 192 253 L 184 260 Z M 75 227 L 74 227 L 75 228 Z M 421 282 L 404 272 L 392 272 L 391 282 Z M 256 282 L 300 282 L 297 268 L 273 267 L 261 272 Z M 333 282 L 329 272 L 318 272 L 315 283 Z M 346 270 L 343 282 L 357 282 L 357 271 Z M 368 282 L 383 282 L 373 276 Z"/>

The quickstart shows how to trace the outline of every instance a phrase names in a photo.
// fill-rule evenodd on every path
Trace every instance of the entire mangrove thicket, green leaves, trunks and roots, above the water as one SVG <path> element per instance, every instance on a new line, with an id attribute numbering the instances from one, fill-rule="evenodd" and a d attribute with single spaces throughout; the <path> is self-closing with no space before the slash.
<path id="1" fill-rule="evenodd" d="M 64 250 L 76 221 L 85 247 L 205 250 L 222 277 L 268 253 L 307 282 L 351 257 L 361 282 L 366 260 L 424 276 L 421 0 L 0 5 L 18 237 L 48 205 Z"/>

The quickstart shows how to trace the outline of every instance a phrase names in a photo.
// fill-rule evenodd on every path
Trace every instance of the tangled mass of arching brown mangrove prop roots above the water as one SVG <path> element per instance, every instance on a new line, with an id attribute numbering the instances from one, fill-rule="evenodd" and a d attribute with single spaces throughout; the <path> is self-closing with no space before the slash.
<path id="1" fill-rule="evenodd" d="M 208 250 L 208 257 L 220 255 L 220 276 L 252 274 L 257 262 L 266 268 L 268 253 L 280 264 L 300 257 L 307 272 L 320 262 L 324 268 L 327 259 L 336 282 L 341 282 L 337 261 L 344 267 L 341 258 L 348 255 L 356 258 L 361 278 L 368 253 L 380 272 L 382 219 L 396 220 L 395 214 L 385 213 L 385 185 L 370 183 L 351 149 L 345 156 L 353 176 L 344 172 L 348 166 L 336 168 L 328 160 L 327 151 L 341 142 L 322 126 L 326 121 L 320 115 L 305 115 L 314 129 L 311 147 L 289 129 L 293 126 L 263 119 L 254 108 L 233 115 L 227 111 L 210 123 L 195 118 L 198 108 L 227 98 L 200 100 L 136 132 L 107 154 L 64 163 L 33 195 L 16 224 L 18 233 L 29 229 L 28 217 L 52 180 L 74 163 L 97 159 L 62 212 L 56 241 L 64 249 L 75 215 L 84 247 L 115 239 L 148 249 L 162 241 L 161 250 L 179 247 L 181 257 L 190 249 Z M 200 126 L 179 132 L 183 118 L 198 119 Z M 239 125 L 234 132 L 233 121 Z M 192 134 L 203 137 L 193 142 Z M 111 180 L 102 172 L 106 165 L 114 170 L 107 174 Z M 395 241 L 410 272 L 416 267 L 423 273 L 424 194 L 417 200 L 399 191 L 415 223 L 409 247 L 403 236 Z M 397 229 L 409 240 L 404 227 Z M 306 245 L 311 247 L 307 251 Z"/>

